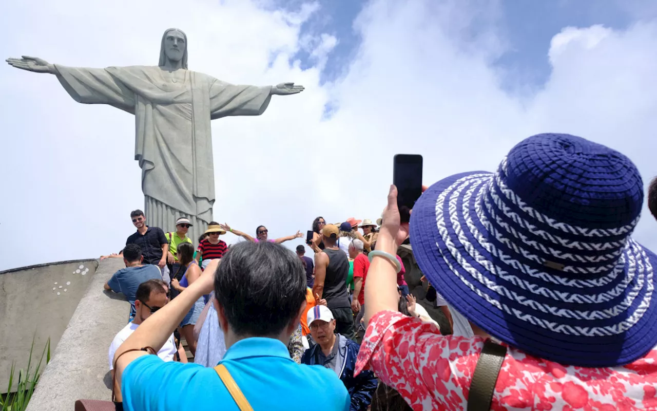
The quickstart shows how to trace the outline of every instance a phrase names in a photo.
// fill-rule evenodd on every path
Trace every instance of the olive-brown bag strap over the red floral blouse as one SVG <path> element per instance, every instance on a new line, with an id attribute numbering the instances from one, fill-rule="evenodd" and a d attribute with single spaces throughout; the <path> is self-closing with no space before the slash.
<path id="1" fill-rule="evenodd" d="M 487 339 L 472 374 L 467 411 L 489 411 L 507 347 Z"/>

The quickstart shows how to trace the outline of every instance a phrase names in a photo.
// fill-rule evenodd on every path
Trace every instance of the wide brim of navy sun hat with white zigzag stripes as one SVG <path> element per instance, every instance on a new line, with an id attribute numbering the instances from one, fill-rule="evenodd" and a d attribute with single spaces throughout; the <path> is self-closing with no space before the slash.
<path id="1" fill-rule="evenodd" d="M 655 347 L 657 256 L 628 239 L 602 280 L 537 264 L 530 254 L 539 244 L 485 224 L 491 216 L 478 193 L 492 178 L 455 174 L 429 187 L 413 207 L 413 255 L 447 302 L 504 343 L 562 364 L 628 364 Z"/>

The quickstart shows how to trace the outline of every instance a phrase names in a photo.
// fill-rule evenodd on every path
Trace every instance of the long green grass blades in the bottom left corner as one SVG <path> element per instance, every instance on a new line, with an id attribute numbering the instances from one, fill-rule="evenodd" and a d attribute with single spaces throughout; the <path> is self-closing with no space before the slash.
<path id="1" fill-rule="evenodd" d="M 16 392 L 12 392 L 14 384 L 14 377 L 16 377 L 16 363 L 11 364 L 11 371 L 9 372 L 9 387 L 5 398 L 0 397 L 0 410 L 1 411 L 24 411 L 28 408 L 28 402 L 32 398 L 32 393 L 39 382 L 41 376 L 41 364 L 45 356 L 45 364 L 50 362 L 50 339 L 45 343 L 41 358 L 37 363 L 34 370 L 32 370 L 32 353 L 34 352 L 34 338 L 32 339 L 32 347 L 30 347 L 30 358 L 28 358 L 28 368 L 26 370 L 18 370 L 18 381 L 16 382 Z"/>

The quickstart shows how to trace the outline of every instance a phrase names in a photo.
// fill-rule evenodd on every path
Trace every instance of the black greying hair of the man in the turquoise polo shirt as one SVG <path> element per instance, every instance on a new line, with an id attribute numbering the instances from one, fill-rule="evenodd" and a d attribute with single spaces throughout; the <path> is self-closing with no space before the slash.
<path id="1" fill-rule="evenodd" d="M 221 258 L 214 293 L 237 335 L 278 335 L 306 301 L 301 259 L 282 245 L 244 241 Z"/>

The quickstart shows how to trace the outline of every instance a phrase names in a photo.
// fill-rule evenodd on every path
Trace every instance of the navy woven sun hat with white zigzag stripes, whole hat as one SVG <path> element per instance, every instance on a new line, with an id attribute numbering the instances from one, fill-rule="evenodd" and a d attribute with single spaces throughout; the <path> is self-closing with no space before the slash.
<path id="1" fill-rule="evenodd" d="M 490 335 L 545 360 L 617 366 L 657 345 L 657 256 L 630 237 L 642 204 L 629 158 L 539 134 L 495 173 L 426 190 L 411 244 L 432 285 Z"/>

